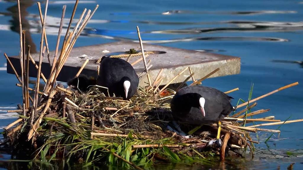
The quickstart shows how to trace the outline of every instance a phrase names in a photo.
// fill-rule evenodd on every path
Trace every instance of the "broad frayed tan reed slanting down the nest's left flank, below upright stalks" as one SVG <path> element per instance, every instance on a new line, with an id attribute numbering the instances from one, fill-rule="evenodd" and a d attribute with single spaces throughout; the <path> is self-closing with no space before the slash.
<path id="1" fill-rule="evenodd" d="M 43 42 L 43 41 L 42 41 Z M 54 95 L 56 94 L 56 90 L 52 90 L 51 93 L 48 96 L 48 100 L 46 101 L 44 110 L 42 111 L 42 113 L 40 114 L 40 116 L 38 117 L 38 120 L 35 122 L 35 124 L 33 124 L 32 129 L 28 132 L 28 140 L 32 139 L 32 137 L 35 135 L 35 132 L 38 129 L 38 126 L 40 125 L 40 123 L 42 122 L 42 118 L 45 115 L 46 111 L 48 110 L 49 106 L 51 105 L 52 99 L 54 97 Z M 33 122 L 33 114 L 31 117 L 31 123 Z"/>

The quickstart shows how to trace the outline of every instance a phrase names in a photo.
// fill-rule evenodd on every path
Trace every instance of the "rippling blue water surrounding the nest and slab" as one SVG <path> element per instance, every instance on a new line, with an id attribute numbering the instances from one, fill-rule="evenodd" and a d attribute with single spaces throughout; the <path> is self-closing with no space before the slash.
<path id="1" fill-rule="evenodd" d="M 37 6 L 31 0 L 24 3 L 28 4 L 24 20 L 31 28 L 28 30 L 32 40 L 30 44 L 35 44 L 38 51 L 41 28 Z M 60 22 L 61 9 L 65 3 L 50 1 L 48 16 L 55 17 Z M 303 118 L 303 67 L 296 63 L 272 61 L 303 61 L 303 1 L 89 1 L 78 5 L 75 17 L 81 14 L 83 8 L 93 9 L 97 3 L 100 7 L 92 22 L 87 25 L 84 36 L 78 38 L 75 47 L 119 40 L 136 41 L 135 27 L 138 25 L 141 37 L 147 43 L 241 57 L 240 74 L 206 79 L 203 84 L 222 91 L 239 87 L 240 90 L 230 94 L 235 98 L 235 105 L 239 98 L 247 100 L 251 83 L 254 83 L 252 98 L 255 98 L 298 81 L 298 86 L 259 100 L 254 110 L 271 110 L 255 118 Z M 0 0 L 0 52 L 8 55 L 18 55 L 19 34 L 12 31 L 15 28 L 11 29 L 12 15 L 16 14 L 9 10 L 15 8 L 15 5 L 15 2 Z M 73 3 L 68 3 L 66 18 L 70 17 L 72 8 Z M 59 24 L 56 19 L 47 20 L 50 50 L 54 50 L 57 39 Z M 15 86 L 15 76 L 6 73 L 5 63 L 5 57 L 0 57 L 0 67 L 3 67 L 0 70 L 0 106 L 15 107 L 22 102 L 21 88 Z M 4 113 L 0 111 L 0 115 Z M 0 126 L 5 126 L 12 120 L 13 118 L 2 119 Z M 257 145 L 259 151 L 254 161 L 248 165 L 243 162 L 238 164 L 255 169 L 276 169 L 278 166 L 285 169 L 295 162 L 295 169 L 303 168 L 302 150 L 297 150 L 303 149 L 302 125 L 303 123 L 282 125 L 279 138 L 275 134 L 267 145 L 264 140 L 270 134 L 258 133 L 260 144 Z M 278 126 L 264 128 L 276 129 Z M 286 151 L 289 150 L 297 150 L 297 157 L 288 157 Z M 251 160 L 249 155 L 247 157 Z M 225 168 L 232 167 L 225 165 Z"/>

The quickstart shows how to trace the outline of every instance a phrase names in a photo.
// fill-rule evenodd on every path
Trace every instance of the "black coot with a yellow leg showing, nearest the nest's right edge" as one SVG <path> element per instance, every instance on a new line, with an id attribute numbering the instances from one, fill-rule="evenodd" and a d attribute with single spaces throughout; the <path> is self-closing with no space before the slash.
<path id="1" fill-rule="evenodd" d="M 180 89 L 171 100 L 174 119 L 187 124 L 218 123 L 234 107 L 232 97 L 210 87 L 189 86 Z"/>

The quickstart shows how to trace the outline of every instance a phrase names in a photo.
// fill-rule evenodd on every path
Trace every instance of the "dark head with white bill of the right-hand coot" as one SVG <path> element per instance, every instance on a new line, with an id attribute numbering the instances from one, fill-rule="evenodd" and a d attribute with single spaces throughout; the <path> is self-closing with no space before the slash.
<path id="1" fill-rule="evenodd" d="M 205 98 L 202 97 L 198 93 L 186 93 L 182 95 L 184 97 L 184 102 L 191 107 L 198 108 L 201 110 L 202 116 L 205 116 L 205 110 L 204 110 L 204 105 L 205 105 Z"/>

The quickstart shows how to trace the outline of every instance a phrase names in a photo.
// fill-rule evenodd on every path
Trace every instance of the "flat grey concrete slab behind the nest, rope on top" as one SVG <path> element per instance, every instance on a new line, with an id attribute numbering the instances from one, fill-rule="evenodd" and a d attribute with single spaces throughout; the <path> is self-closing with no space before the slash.
<path id="1" fill-rule="evenodd" d="M 179 48 L 163 47 L 159 45 L 144 44 L 144 51 L 154 51 L 158 54 L 151 54 L 148 56 L 147 61 L 151 59 L 151 64 L 153 65 L 150 70 L 151 78 L 155 78 L 163 68 L 163 82 L 162 84 L 167 84 L 175 75 L 177 75 L 181 70 L 183 70 L 188 65 L 191 66 L 193 72 L 195 73 L 195 78 L 200 79 L 206 74 L 220 68 L 218 72 L 213 74 L 211 77 L 232 75 L 240 73 L 240 58 L 232 57 L 220 54 L 212 54 L 206 52 L 198 52 L 193 50 L 184 50 Z M 85 69 L 82 71 L 82 74 L 88 76 L 96 77 L 97 66 L 99 65 L 96 61 L 104 55 L 118 55 L 125 54 L 125 51 L 134 48 L 137 51 L 140 51 L 140 44 L 134 43 L 131 41 L 118 41 L 108 44 L 98 44 L 85 47 L 76 47 L 73 48 L 68 60 L 66 61 L 64 67 L 61 70 L 57 80 L 66 82 L 73 78 L 78 72 L 79 68 L 82 66 L 83 62 L 86 59 L 89 59 L 88 64 L 85 66 Z M 110 51 L 109 53 L 102 53 L 103 50 Z M 60 53 L 59 53 L 60 54 Z M 54 51 L 50 52 L 51 60 L 54 57 Z M 39 54 L 32 54 L 34 60 L 38 63 Z M 142 56 L 132 57 L 130 63 L 138 60 Z M 20 74 L 20 62 L 18 56 L 9 57 Z M 123 58 L 126 60 L 126 57 Z M 134 66 L 137 74 L 140 74 L 144 70 L 143 61 L 139 62 Z M 7 73 L 14 74 L 12 68 L 7 64 Z M 42 73 L 45 77 L 48 77 L 50 74 L 50 66 L 48 64 L 47 57 L 43 58 L 42 62 Z M 190 75 L 189 71 L 185 71 L 183 75 Z M 33 64 L 30 62 L 29 76 L 36 77 L 37 70 Z M 179 76 L 173 83 L 183 82 L 186 77 Z M 143 81 L 142 81 L 143 80 Z M 144 85 L 144 82 L 147 82 L 146 76 L 142 78 L 140 85 Z M 191 80 L 191 79 L 190 79 Z"/>

